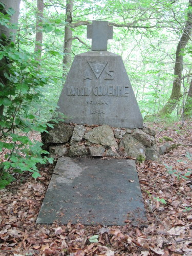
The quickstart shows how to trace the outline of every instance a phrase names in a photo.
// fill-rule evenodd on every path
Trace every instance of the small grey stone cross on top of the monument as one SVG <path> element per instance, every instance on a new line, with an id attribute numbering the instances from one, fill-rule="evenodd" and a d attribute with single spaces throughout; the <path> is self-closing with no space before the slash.
<path id="1" fill-rule="evenodd" d="M 108 22 L 93 20 L 92 25 L 88 25 L 87 38 L 92 39 L 92 51 L 107 51 L 108 39 L 113 39 L 113 26 Z"/>

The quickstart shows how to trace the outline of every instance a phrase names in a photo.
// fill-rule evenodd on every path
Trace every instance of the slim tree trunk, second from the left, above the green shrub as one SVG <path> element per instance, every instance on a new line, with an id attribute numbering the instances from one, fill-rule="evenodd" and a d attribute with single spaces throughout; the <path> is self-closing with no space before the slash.
<path id="1" fill-rule="evenodd" d="M 37 0 L 37 18 L 36 18 L 36 34 L 35 34 L 35 52 L 38 51 L 38 59 L 41 57 L 42 51 L 42 19 L 44 17 L 44 2 Z"/>

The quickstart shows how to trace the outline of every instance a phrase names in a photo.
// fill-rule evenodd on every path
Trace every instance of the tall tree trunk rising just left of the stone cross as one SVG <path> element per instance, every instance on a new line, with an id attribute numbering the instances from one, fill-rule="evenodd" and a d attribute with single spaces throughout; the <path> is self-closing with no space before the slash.
<path id="1" fill-rule="evenodd" d="M 65 38 L 63 44 L 63 77 L 67 75 L 67 70 L 71 63 L 71 45 L 73 32 L 71 30 L 72 23 L 72 13 L 73 13 L 73 0 L 68 0 L 66 4 L 66 23 L 65 26 Z"/>

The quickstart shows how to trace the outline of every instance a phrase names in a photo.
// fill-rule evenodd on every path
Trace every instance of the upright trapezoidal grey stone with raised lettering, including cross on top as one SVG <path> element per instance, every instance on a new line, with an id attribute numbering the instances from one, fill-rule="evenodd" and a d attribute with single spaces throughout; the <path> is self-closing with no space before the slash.
<path id="1" fill-rule="evenodd" d="M 77 124 L 142 128 L 143 119 L 121 56 L 108 52 L 113 26 L 88 25 L 92 51 L 75 56 L 59 97 L 58 111 Z"/>

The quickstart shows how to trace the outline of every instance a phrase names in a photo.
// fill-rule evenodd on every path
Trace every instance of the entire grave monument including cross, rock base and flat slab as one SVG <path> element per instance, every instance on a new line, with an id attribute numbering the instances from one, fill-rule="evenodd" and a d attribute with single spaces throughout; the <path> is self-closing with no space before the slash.
<path id="1" fill-rule="evenodd" d="M 141 225 L 139 179 L 127 157 L 155 155 L 155 134 L 143 125 L 122 58 L 107 51 L 113 26 L 93 21 L 88 38 L 92 51 L 75 56 L 58 102 L 68 123 L 41 135 L 59 158 L 36 223 Z"/>

